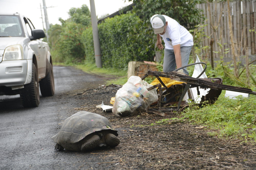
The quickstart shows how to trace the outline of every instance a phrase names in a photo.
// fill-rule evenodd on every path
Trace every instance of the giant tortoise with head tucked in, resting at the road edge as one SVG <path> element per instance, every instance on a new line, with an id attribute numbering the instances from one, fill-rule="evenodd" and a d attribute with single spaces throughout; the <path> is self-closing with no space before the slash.
<path id="1" fill-rule="evenodd" d="M 120 143 L 118 133 L 109 120 L 99 114 L 80 111 L 68 117 L 58 134 L 51 137 L 55 150 L 88 151 Z"/>

